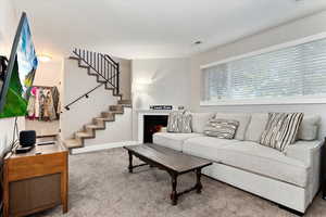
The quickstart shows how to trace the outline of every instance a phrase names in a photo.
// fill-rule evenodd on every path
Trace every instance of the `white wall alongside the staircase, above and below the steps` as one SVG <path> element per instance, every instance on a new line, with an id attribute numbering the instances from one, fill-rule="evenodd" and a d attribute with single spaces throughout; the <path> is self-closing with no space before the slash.
<path id="1" fill-rule="evenodd" d="M 89 76 L 87 69 L 78 67 L 78 62 L 75 60 L 65 59 L 63 68 L 63 106 L 99 85 L 96 77 Z M 90 124 L 92 118 L 99 117 L 101 112 L 109 111 L 109 106 L 115 105 L 117 100 L 120 98 L 113 97 L 112 90 L 106 90 L 102 86 L 90 93 L 88 99 L 84 98 L 73 104 L 70 111 L 63 110 L 60 120 L 62 138 L 72 138 L 74 132 L 82 130 L 84 125 Z M 86 140 L 85 145 L 129 141 L 130 139 L 131 114 L 130 110 L 126 110 L 126 114 L 116 116 L 116 122 L 106 123 L 105 130 L 97 131 L 96 139 Z"/>

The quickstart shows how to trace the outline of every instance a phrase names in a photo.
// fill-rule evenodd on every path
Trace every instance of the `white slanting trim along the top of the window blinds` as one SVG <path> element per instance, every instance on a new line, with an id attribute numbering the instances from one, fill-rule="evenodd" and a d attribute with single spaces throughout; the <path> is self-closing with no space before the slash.
<path id="1" fill-rule="evenodd" d="M 241 54 L 241 55 L 224 59 L 222 61 L 217 61 L 217 62 L 213 62 L 213 63 L 210 63 L 210 64 L 201 65 L 200 68 L 203 69 L 203 68 L 220 65 L 220 64 L 223 64 L 223 63 L 228 63 L 228 62 L 231 62 L 231 61 L 240 60 L 240 59 L 243 59 L 243 58 L 260 55 L 260 54 L 263 54 L 263 53 L 268 53 L 268 52 L 272 52 L 272 51 L 277 51 L 277 50 L 280 50 L 280 49 L 285 49 L 285 48 L 289 48 L 289 47 L 293 47 L 293 46 L 298 46 L 298 44 L 302 44 L 302 43 L 308 43 L 308 42 L 311 42 L 311 41 L 325 39 L 325 38 L 326 38 L 326 33 L 321 33 L 321 34 L 317 34 L 317 35 L 304 37 L 304 38 L 293 40 L 293 41 L 290 41 L 290 42 L 285 42 L 285 43 L 272 46 L 272 47 L 264 48 L 264 49 L 261 49 L 261 50 L 256 50 L 256 51 L 253 51 L 253 52 L 249 52 L 249 53 L 244 53 L 244 54 Z"/>

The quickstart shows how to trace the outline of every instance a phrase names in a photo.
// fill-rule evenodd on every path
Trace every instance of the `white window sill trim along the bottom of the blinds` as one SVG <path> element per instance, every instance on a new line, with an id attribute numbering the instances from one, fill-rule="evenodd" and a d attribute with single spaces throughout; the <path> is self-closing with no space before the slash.
<path id="1" fill-rule="evenodd" d="M 276 99 L 255 99 L 255 100 L 221 100 L 201 101 L 200 106 L 216 105 L 279 105 L 279 104 L 326 104 L 326 97 L 323 98 L 276 98 Z"/>

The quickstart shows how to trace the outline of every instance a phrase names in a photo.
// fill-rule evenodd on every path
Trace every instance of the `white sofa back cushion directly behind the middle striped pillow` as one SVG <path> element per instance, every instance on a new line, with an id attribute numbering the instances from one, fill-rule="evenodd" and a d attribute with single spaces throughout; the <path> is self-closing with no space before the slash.
<path id="1" fill-rule="evenodd" d="M 217 113 L 215 118 L 222 119 L 234 119 L 239 122 L 239 127 L 237 129 L 235 139 L 236 140 L 244 140 L 246 130 L 248 128 L 250 122 L 250 114 L 242 113 Z"/>

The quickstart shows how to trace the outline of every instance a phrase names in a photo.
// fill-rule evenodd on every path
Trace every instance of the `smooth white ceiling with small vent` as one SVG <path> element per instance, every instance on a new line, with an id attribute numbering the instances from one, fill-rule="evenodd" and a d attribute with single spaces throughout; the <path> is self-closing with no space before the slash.
<path id="1" fill-rule="evenodd" d="M 187 56 L 326 9 L 326 0 L 14 0 L 38 52 Z M 202 40 L 201 46 L 193 46 Z"/>

